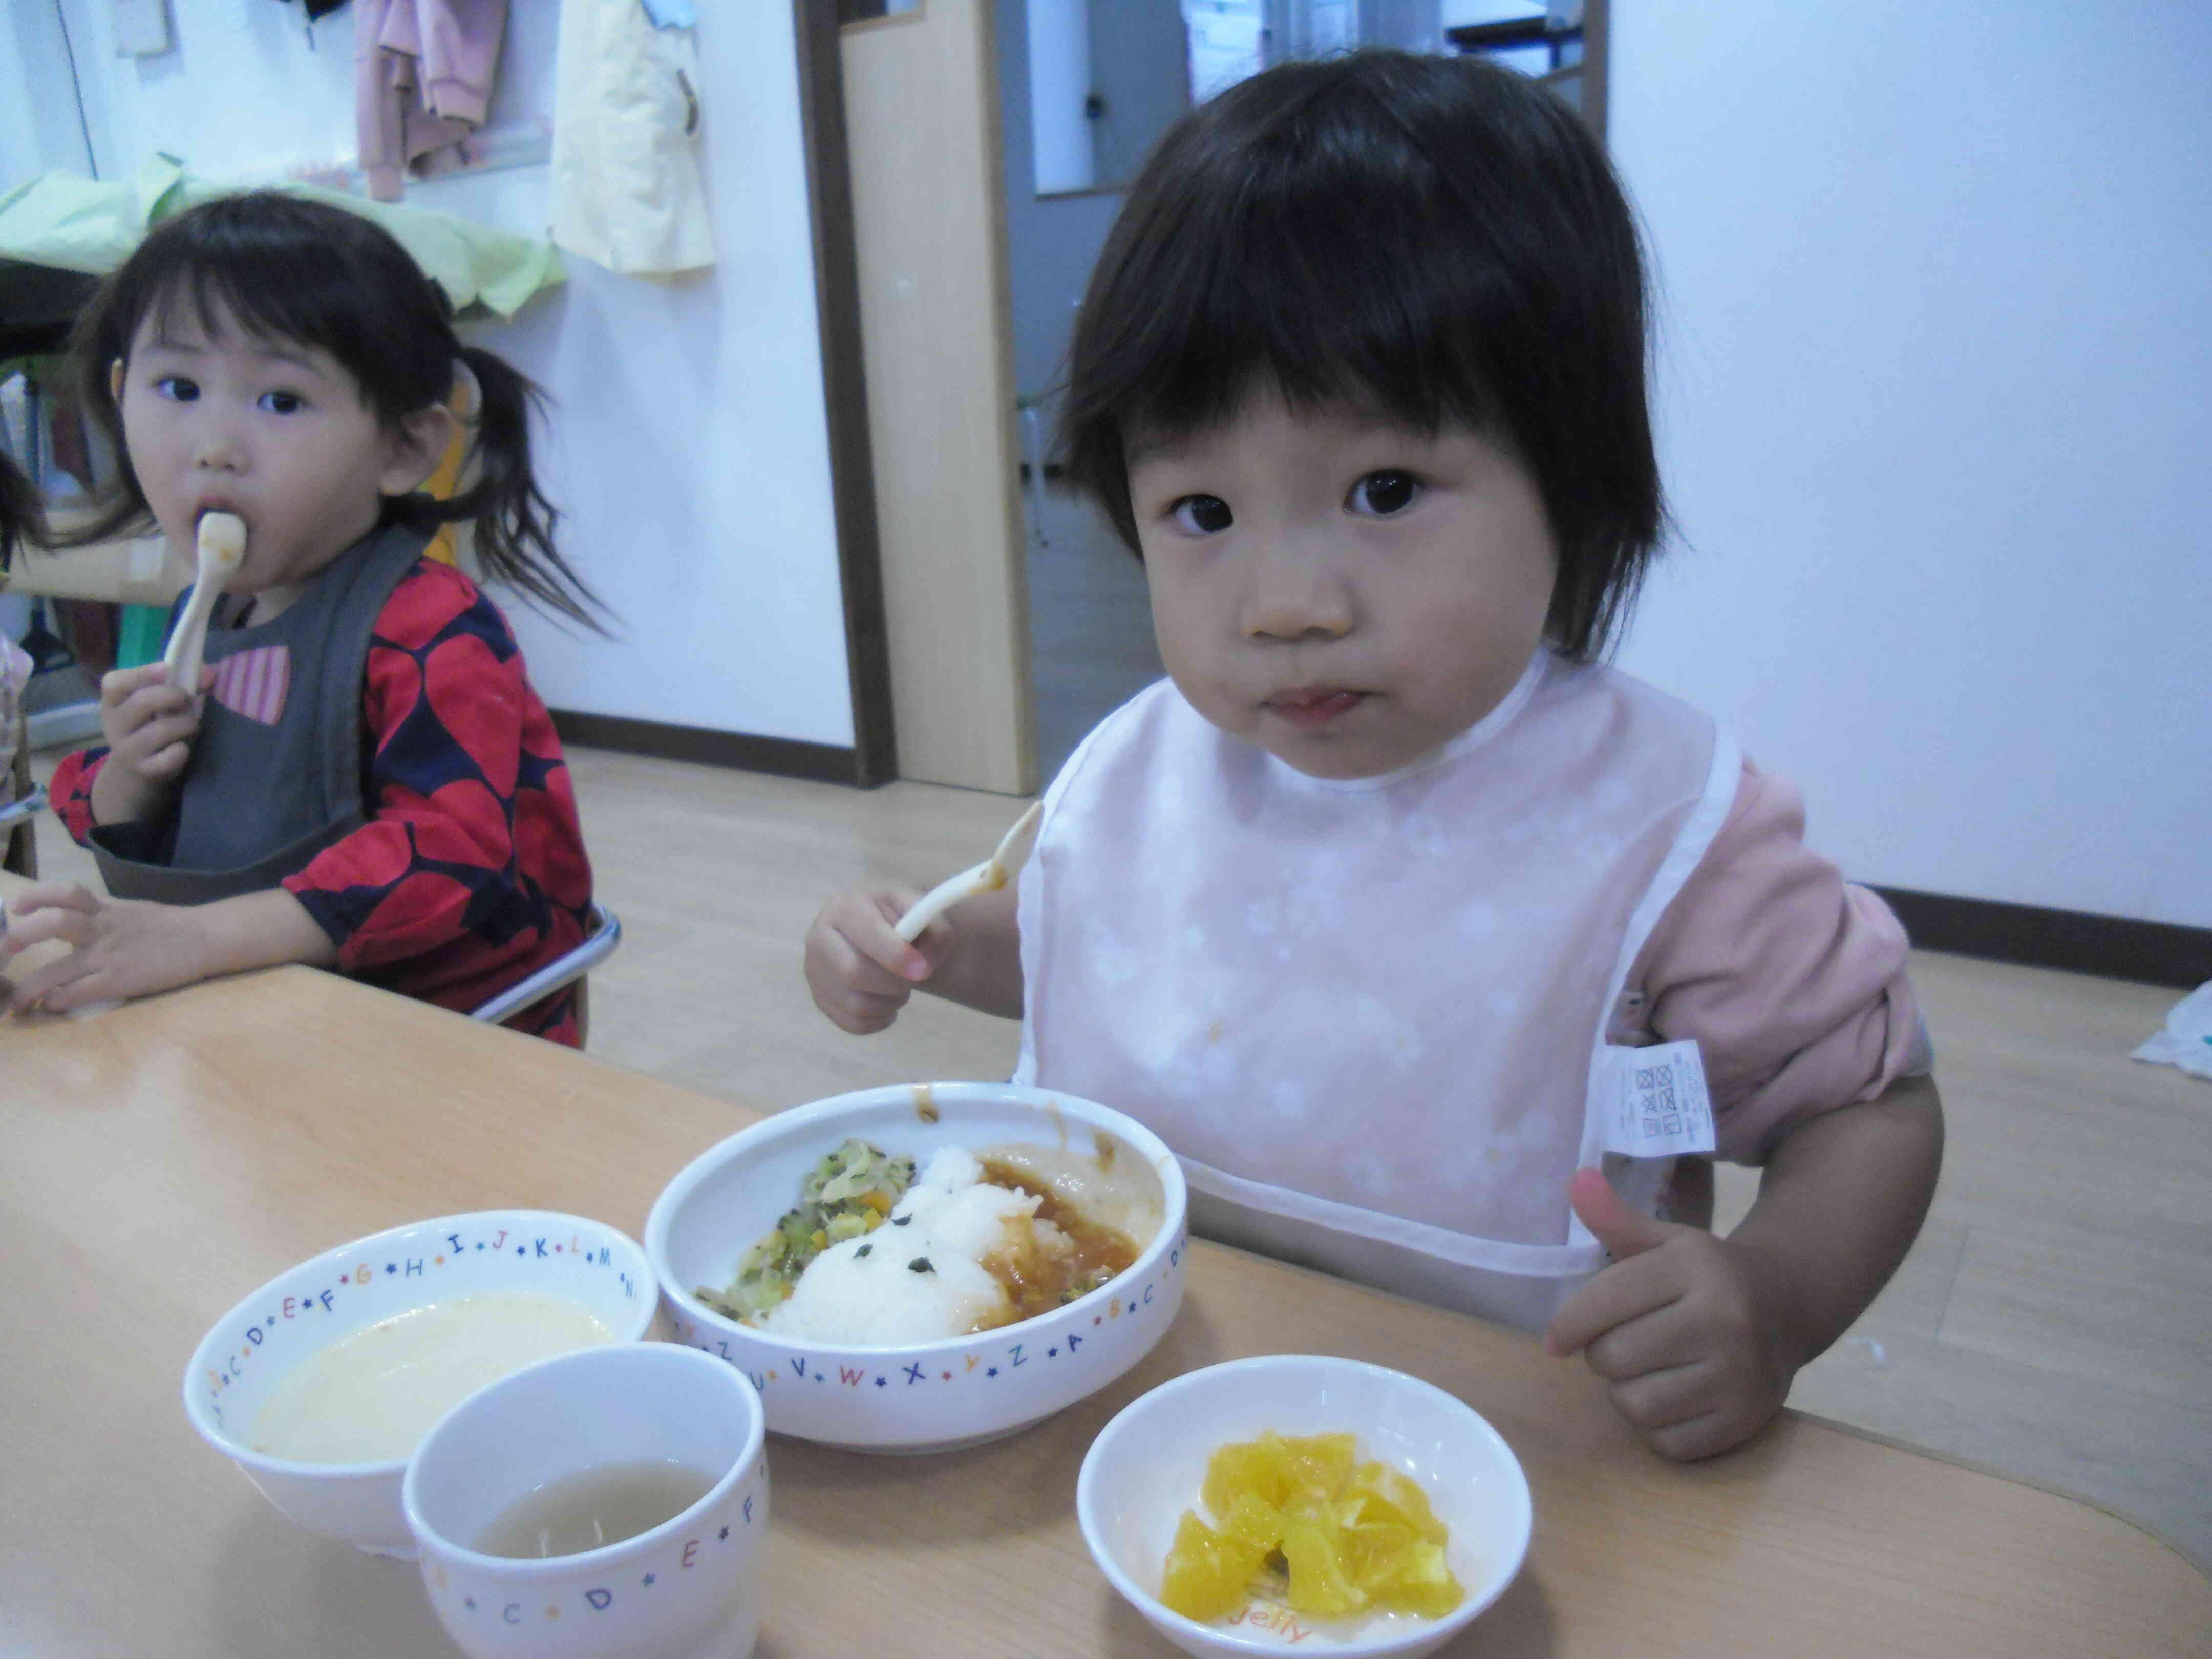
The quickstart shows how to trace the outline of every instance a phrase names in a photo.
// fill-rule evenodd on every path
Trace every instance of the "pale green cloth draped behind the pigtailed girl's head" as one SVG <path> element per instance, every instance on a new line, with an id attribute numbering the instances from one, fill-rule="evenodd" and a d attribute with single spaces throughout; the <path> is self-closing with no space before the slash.
<path id="1" fill-rule="evenodd" d="M 283 188 L 380 223 L 445 290 L 456 312 L 482 307 L 513 316 L 540 288 L 564 279 L 551 241 L 307 184 Z M 126 184 L 42 173 L 0 195 L 0 259 L 100 276 L 124 263 L 159 219 L 223 195 L 234 190 L 195 179 L 168 155 L 148 159 Z"/>

